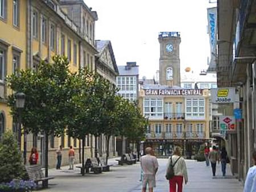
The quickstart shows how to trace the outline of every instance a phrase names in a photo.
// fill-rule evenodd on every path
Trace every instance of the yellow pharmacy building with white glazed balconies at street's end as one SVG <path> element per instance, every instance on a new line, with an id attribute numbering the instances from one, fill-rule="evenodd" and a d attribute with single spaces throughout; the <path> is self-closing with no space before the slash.
<path id="1" fill-rule="evenodd" d="M 174 147 L 184 156 L 196 155 L 209 141 L 209 91 L 144 85 L 139 103 L 148 118 L 144 147 L 154 148 L 157 156 L 170 156 Z"/>

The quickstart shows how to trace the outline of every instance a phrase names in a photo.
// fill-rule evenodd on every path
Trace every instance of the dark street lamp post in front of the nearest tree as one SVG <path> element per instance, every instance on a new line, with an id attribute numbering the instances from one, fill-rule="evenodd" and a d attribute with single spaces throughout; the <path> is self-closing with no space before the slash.
<path id="1" fill-rule="evenodd" d="M 24 108 L 25 94 L 18 92 L 15 94 L 15 99 L 16 99 L 15 106 L 18 109 L 18 145 L 19 145 L 19 149 L 21 149 L 21 123 L 22 123 L 21 111 L 22 111 L 22 108 Z M 24 141 L 25 141 L 25 138 L 24 138 Z M 25 151 L 25 148 L 24 148 L 24 151 Z"/>

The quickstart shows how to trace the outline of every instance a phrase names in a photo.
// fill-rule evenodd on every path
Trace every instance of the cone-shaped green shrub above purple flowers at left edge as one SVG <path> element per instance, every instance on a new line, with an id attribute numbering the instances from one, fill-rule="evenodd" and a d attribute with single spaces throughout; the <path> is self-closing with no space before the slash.
<path id="1" fill-rule="evenodd" d="M 24 177 L 22 155 L 11 131 L 3 134 L 0 143 L 0 183 Z"/>

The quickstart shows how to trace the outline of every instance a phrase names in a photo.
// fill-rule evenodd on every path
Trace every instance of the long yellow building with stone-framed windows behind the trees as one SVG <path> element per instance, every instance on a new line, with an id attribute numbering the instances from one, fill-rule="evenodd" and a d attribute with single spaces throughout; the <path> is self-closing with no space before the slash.
<path id="1" fill-rule="evenodd" d="M 0 0 L 0 28 L 4 29 L 0 33 L 0 139 L 5 130 L 17 130 L 7 107 L 6 99 L 11 90 L 6 87 L 5 77 L 17 68 L 36 70 L 41 60 L 51 62 L 55 54 L 68 57 L 72 72 L 83 67 L 94 71 L 98 53 L 94 38 L 97 19 L 97 12 L 89 9 L 82 0 Z M 44 136 L 30 134 L 26 141 L 27 156 L 32 146 L 37 147 L 40 164 L 44 165 L 41 155 Z M 49 166 L 55 166 L 55 151 L 59 145 L 64 147 L 63 164 L 68 164 L 70 145 L 75 148 L 78 162 L 80 144 L 68 136 L 52 136 Z M 94 155 L 93 144 L 94 137 L 86 136 L 86 157 Z"/>

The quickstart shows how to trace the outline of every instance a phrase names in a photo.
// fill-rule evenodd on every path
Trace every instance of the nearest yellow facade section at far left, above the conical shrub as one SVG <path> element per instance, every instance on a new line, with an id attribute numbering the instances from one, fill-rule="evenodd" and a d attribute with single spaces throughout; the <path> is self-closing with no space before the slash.
<path id="1" fill-rule="evenodd" d="M 15 131 L 13 118 L 7 107 L 5 77 L 16 69 L 26 68 L 27 63 L 27 1 L 0 0 L 0 140 L 7 129 Z"/>

